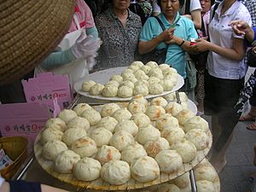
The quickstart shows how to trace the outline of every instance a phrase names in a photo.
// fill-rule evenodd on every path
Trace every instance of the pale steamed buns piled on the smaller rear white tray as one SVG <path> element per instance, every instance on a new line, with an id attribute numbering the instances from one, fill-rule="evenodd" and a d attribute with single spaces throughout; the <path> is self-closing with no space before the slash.
<path id="1" fill-rule="evenodd" d="M 144 65 L 142 61 L 134 61 L 121 75 L 113 75 L 107 83 L 89 80 L 82 84 L 81 90 L 92 96 L 127 98 L 138 94 L 160 95 L 172 90 L 176 84 L 177 70 L 169 65 L 158 65 L 154 61 Z"/>

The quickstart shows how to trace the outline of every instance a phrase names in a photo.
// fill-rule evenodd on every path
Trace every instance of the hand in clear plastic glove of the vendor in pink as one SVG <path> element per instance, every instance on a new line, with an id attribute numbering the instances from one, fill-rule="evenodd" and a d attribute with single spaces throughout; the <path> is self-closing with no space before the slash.
<path id="1" fill-rule="evenodd" d="M 71 50 L 77 59 L 90 56 L 96 57 L 96 51 L 100 48 L 101 44 L 102 41 L 100 38 L 86 37 L 85 33 L 82 32 L 75 44 L 71 47 Z"/>

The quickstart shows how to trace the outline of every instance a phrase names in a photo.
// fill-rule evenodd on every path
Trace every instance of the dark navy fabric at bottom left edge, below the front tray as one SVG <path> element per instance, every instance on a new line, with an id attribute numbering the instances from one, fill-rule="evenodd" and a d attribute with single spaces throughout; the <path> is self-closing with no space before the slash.
<path id="1" fill-rule="evenodd" d="M 26 181 L 8 181 L 10 192 L 41 192 L 41 184 Z"/>

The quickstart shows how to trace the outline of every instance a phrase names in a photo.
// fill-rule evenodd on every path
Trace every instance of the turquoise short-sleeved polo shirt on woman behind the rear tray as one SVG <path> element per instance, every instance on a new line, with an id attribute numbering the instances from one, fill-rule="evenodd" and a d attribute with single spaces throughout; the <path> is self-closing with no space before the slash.
<path id="1" fill-rule="evenodd" d="M 160 20 L 162 20 L 166 29 L 172 27 L 168 20 L 166 20 L 166 16 L 164 14 L 158 15 Z M 177 13 L 174 23 L 177 22 L 175 26 L 174 35 L 178 38 L 183 38 L 187 41 L 190 41 L 190 38 L 198 38 L 197 32 L 195 31 L 195 26 L 192 20 L 189 20 L 183 16 L 178 18 L 180 15 Z M 158 21 L 155 18 L 148 18 L 146 23 L 143 26 L 143 30 L 140 34 L 140 41 L 149 41 L 162 32 Z M 166 44 L 164 42 L 160 43 L 156 49 L 165 48 Z M 166 53 L 166 64 L 172 65 L 173 68 L 177 70 L 183 78 L 186 78 L 186 59 L 185 59 L 185 51 L 178 46 L 177 44 L 170 44 L 167 48 Z"/>

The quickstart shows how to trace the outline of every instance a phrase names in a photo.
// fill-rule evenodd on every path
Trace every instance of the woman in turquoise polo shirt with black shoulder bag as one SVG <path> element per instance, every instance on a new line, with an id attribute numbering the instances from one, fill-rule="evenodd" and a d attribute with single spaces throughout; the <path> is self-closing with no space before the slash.
<path id="1" fill-rule="evenodd" d="M 158 18 L 166 27 L 166 31 L 162 31 L 158 20 L 148 18 L 140 34 L 139 54 L 144 55 L 153 49 L 166 48 L 165 63 L 177 69 L 177 73 L 185 79 L 183 90 L 189 94 L 185 53 L 193 53 L 190 40 L 198 38 L 198 35 L 192 20 L 178 13 L 183 6 L 183 0 L 159 0 L 158 3 L 162 11 Z"/>

